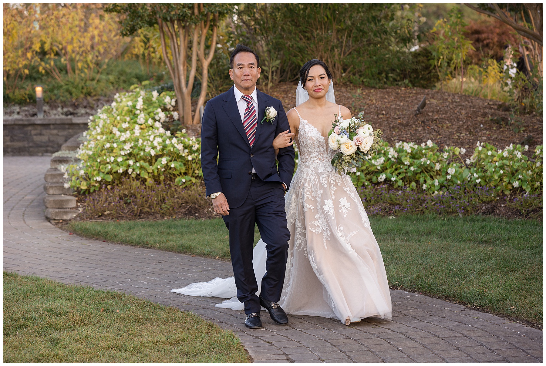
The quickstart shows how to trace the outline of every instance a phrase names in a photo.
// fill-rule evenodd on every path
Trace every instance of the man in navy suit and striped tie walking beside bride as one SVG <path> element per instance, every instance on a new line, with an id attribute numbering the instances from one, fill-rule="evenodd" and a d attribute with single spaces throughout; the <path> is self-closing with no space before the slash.
<path id="1" fill-rule="evenodd" d="M 212 198 L 215 212 L 222 215 L 229 230 L 237 298 L 245 303 L 245 325 L 262 327 L 260 304 L 271 319 L 286 324 L 288 317 L 277 302 L 290 239 L 284 193 L 292 181 L 294 148 L 281 148 L 275 157 L 272 144 L 275 136 L 290 127 L 281 101 L 256 88 L 260 77 L 258 55 L 238 45 L 229 61 L 234 86 L 207 102 L 201 125 L 206 195 Z M 277 115 L 263 121 L 270 107 Z M 259 297 L 252 267 L 255 224 L 268 251 Z"/>

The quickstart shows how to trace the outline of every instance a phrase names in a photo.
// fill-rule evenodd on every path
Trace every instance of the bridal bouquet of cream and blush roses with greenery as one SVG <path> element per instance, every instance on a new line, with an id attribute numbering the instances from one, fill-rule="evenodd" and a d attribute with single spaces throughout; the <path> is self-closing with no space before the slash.
<path id="1" fill-rule="evenodd" d="M 338 172 L 351 172 L 357 170 L 357 166 L 362 165 L 362 161 L 367 161 L 381 145 L 380 129 L 373 130 L 371 125 L 364 121 L 364 112 L 357 117 L 343 119 L 337 117 L 332 122 L 332 129 L 328 135 L 328 145 L 336 154 L 332 159 L 332 166 L 335 166 Z M 366 154 L 366 155 L 365 155 Z"/>

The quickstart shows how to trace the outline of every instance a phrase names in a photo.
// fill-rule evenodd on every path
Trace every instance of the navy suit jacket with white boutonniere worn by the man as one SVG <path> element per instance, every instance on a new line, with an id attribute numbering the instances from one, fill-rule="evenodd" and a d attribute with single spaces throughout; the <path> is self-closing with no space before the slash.
<path id="1" fill-rule="evenodd" d="M 281 148 L 277 155 L 277 169 L 273 140 L 290 126 L 281 101 L 260 91 L 257 91 L 256 140 L 250 147 L 235 101 L 234 87 L 207 101 L 201 124 L 201 168 L 206 195 L 222 192 L 230 208 L 245 202 L 252 181 L 252 167 L 263 181 L 285 183 L 289 187 L 295 157 L 292 145 Z M 274 107 L 277 111 L 272 124 L 268 121 L 260 123 L 266 107 Z"/>

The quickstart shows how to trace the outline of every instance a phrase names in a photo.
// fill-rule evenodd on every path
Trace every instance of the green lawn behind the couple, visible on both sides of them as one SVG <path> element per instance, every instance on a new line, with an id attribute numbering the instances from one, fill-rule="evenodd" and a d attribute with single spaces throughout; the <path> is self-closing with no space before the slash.
<path id="1" fill-rule="evenodd" d="M 394 288 L 542 325 L 541 222 L 438 215 L 370 221 Z M 229 259 L 222 219 L 73 221 L 67 229 L 111 242 Z"/>

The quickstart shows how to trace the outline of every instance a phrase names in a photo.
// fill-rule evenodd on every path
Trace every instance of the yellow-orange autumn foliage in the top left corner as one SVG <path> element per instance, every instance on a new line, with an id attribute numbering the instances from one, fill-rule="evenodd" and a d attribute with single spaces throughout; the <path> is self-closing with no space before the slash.
<path id="1" fill-rule="evenodd" d="M 103 4 L 5 4 L 4 93 L 24 93 L 32 70 L 64 83 L 97 82 L 130 39 Z M 37 69 L 37 70 L 36 70 Z"/>

